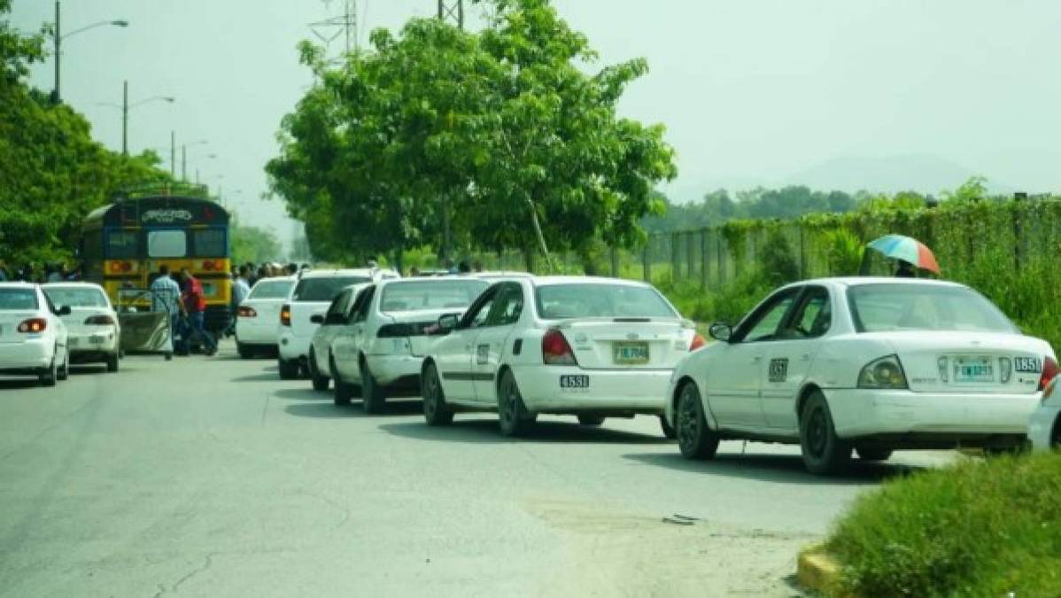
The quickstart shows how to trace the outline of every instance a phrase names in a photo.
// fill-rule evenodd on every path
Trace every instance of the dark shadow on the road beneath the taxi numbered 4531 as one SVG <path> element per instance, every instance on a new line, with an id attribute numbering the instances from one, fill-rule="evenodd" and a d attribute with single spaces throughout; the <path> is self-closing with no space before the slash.
<path id="1" fill-rule="evenodd" d="M 501 435 L 497 420 L 457 420 L 451 426 L 431 427 L 423 422 L 384 424 L 381 430 L 395 435 L 415 440 L 438 442 L 536 442 L 577 444 L 667 444 L 663 437 L 654 437 L 606 427 L 595 428 L 567 422 L 538 422 L 518 439 Z"/>

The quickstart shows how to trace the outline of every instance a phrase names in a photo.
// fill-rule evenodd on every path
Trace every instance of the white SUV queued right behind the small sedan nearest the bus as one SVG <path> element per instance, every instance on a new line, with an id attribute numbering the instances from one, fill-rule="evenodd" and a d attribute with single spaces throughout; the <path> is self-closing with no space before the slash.
<path id="1" fill-rule="evenodd" d="M 277 345 L 277 369 L 280 378 L 289 380 L 299 373 L 309 373 L 310 341 L 319 324 L 314 315 L 323 315 L 335 295 L 350 285 L 397 278 L 390 270 L 303 270 L 298 274 L 286 301 L 280 307 Z"/>

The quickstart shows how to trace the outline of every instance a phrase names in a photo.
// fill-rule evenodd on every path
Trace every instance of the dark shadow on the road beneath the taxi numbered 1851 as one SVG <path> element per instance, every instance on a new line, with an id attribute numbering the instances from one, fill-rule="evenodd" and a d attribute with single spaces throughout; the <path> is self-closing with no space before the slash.
<path id="1" fill-rule="evenodd" d="M 639 461 L 646 465 L 668 467 L 680 472 L 694 474 L 713 474 L 734 478 L 748 478 L 770 482 L 830 484 L 830 485 L 869 485 L 880 483 L 888 478 L 905 476 L 921 469 L 902 464 L 867 463 L 854 459 L 851 468 L 836 476 L 815 476 L 803 467 L 799 455 L 741 455 L 719 452 L 714 459 L 707 461 L 690 461 L 682 457 L 677 447 L 673 454 L 641 452 L 624 455 L 624 459 Z"/>

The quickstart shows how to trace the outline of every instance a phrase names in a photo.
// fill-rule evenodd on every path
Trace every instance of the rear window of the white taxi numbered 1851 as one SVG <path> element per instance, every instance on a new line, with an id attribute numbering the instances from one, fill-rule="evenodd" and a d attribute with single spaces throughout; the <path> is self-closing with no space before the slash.
<path id="1" fill-rule="evenodd" d="M 857 285 L 848 289 L 848 301 L 859 332 L 1016 332 L 1013 324 L 994 304 L 967 287 Z"/>

